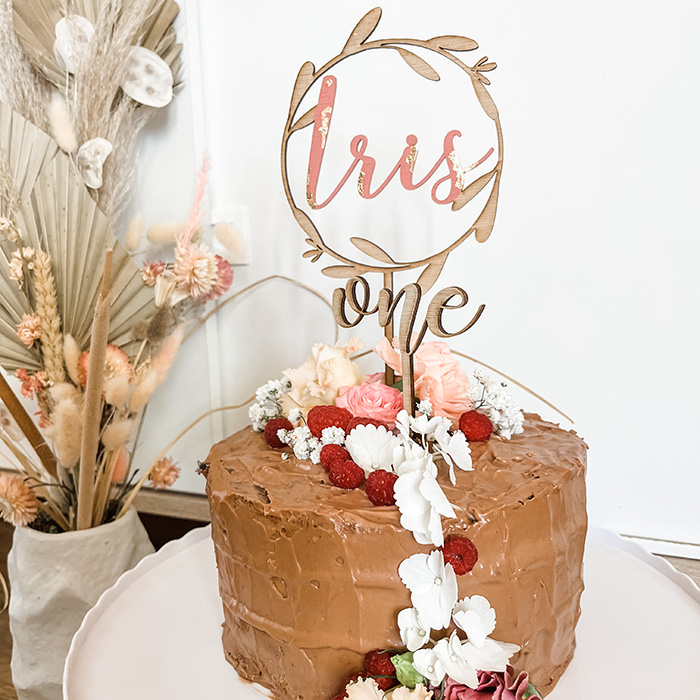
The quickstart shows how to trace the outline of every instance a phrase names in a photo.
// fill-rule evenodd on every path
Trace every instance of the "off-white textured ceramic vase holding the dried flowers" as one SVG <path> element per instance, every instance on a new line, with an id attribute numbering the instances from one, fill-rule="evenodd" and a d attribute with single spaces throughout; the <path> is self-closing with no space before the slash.
<path id="1" fill-rule="evenodd" d="M 19 700 L 61 700 L 66 655 L 85 613 L 151 552 L 133 509 L 89 530 L 15 529 L 7 569 L 12 680 Z"/>

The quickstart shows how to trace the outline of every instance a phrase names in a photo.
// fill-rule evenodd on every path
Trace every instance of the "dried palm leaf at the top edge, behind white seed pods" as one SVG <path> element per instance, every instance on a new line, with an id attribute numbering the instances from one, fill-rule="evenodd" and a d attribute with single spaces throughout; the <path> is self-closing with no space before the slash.
<path id="1" fill-rule="evenodd" d="M 70 76 L 61 68 L 54 54 L 56 24 L 67 14 L 86 17 L 95 24 L 103 6 L 111 0 L 14 0 L 14 26 L 20 43 L 32 65 L 61 90 Z M 129 11 L 133 0 L 125 2 Z M 168 65 L 176 79 L 182 69 L 182 44 L 175 37 L 173 22 L 180 8 L 174 0 L 150 0 L 141 26 L 141 46 L 155 51 Z"/>

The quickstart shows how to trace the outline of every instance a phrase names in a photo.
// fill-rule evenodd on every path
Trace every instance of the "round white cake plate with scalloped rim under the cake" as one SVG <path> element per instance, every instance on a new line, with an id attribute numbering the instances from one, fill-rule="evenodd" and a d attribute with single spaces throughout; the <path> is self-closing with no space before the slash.
<path id="1" fill-rule="evenodd" d="M 578 647 L 548 700 L 698 697 L 700 590 L 691 579 L 599 529 L 589 531 L 584 566 Z M 269 697 L 225 661 L 222 620 L 210 528 L 200 528 L 146 557 L 85 616 L 66 660 L 65 700 Z"/>

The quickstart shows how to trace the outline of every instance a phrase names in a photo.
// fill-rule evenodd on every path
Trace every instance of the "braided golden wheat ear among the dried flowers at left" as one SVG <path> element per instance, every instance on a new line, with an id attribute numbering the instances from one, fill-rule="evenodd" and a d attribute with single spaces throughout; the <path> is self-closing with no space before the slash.
<path id="1" fill-rule="evenodd" d="M 34 263 L 34 292 L 36 313 L 41 318 L 41 354 L 49 380 L 58 384 L 66 381 L 63 366 L 63 334 L 58 314 L 56 280 L 51 270 L 51 257 L 43 250 L 36 251 Z"/>

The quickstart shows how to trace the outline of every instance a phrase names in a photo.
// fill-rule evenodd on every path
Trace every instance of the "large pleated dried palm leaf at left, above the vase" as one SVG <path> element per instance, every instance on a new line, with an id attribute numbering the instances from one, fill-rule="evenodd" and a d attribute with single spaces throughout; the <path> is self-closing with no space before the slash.
<path id="1" fill-rule="evenodd" d="M 25 184 L 17 186 L 21 205 L 15 220 L 24 245 L 41 249 L 51 257 L 63 333 L 73 336 L 79 348 L 87 348 L 100 294 L 104 252 L 112 248 L 109 342 L 127 345 L 132 340 L 133 326 L 146 321 L 156 310 L 153 291 L 143 284 L 139 268 L 113 235 L 109 219 L 90 196 L 70 159 L 58 151 L 46 134 L 17 113 L 8 116 L 6 112 L 11 110 L 0 103 L 0 125 L 13 122 L 16 132 L 28 143 L 33 137 L 38 144 L 46 144 L 46 139 L 53 144 L 50 148 L 37 147 L 44 155 L 32 156 L 29 149 L 24 161 L 17 161 L 14 172 L 18 182 Z M 0 131 L 0 139 L 4 133 Z M 46 162 L 51 152 L 53 158 Z M 34 183 L 29 188 L 25 171 L 35 173 L 37 160 L 43 167 L 33 176 Z M 38 355 L 32 356 L 31 350 L 16 338 L 16 323 L 28 309 L 26 296 L 15 282 L 8 280 L 6 270 L 0 274 L 0 293 L 0 364 L 7 369 L 36 369 Z"/>

